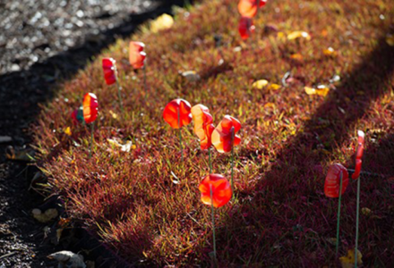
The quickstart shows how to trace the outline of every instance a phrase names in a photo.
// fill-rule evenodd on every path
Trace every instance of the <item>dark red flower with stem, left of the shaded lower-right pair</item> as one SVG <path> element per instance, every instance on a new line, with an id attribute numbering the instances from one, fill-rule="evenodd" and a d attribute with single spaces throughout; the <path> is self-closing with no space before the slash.
<path id="1" fill-rule="evenodd" d="M 347 189 L 349 183 L 349 174 L 347 169 L 340 163 L 334 163 L 330 166 L 327 172 L 324 183 L 324 194 L 326 197 L 338 197 L 338 215 L 337 215 L 337 241 L 336 241 L 336 255 L 338 255 L 339 245 L 339 224 L 340 224 L 340 202 L 341 197 Z"/>

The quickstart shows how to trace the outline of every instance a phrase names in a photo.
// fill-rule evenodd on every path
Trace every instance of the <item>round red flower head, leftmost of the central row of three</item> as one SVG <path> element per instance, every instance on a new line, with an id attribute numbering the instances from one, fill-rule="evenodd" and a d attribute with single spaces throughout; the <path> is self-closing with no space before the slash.
<path id="1" fill-rule="evenodd" d="M 191 110 L 192 107 L 188 101 L 185 101 L 182 98 L 176 98 L 170 101 L 164 108 L 164 121 L 167 121 L 173 129 L 179 129 L 183 126 L 187 126 L 192 121 Z M 178 113 L 180 124 L 178 124 Z"/>

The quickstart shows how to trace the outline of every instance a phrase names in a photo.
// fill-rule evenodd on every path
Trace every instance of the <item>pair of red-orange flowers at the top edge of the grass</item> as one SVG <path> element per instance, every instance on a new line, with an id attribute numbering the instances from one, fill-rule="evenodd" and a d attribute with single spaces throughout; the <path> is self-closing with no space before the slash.
<path id="1" fill-rule="evenodd" d="M 266 2 L 267 0 L 239 0 L 238 12 L 241 14 L 241 19 L 238 24 L 238 31 L 243 40 L 252 35 L 255 29 L 252 19 Z"/>

